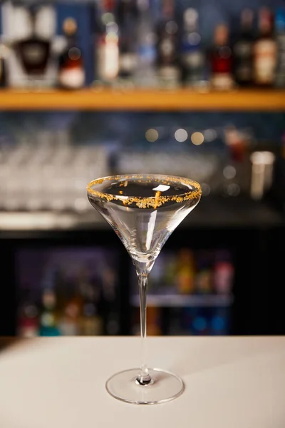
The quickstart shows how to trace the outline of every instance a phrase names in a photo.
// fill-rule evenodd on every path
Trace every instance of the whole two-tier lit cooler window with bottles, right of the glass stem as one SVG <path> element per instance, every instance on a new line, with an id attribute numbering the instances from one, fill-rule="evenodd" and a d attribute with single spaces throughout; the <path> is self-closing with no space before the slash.
<path id="1" fill-rule="evenodd" d="M 135 282 L 133 282 L 135 283 Z M 148 335 L 228 335 L 234 297 L 231 250 L 163 250 L 149 278 Z M 133 334 L 139 299 L 133 289 Z"/>

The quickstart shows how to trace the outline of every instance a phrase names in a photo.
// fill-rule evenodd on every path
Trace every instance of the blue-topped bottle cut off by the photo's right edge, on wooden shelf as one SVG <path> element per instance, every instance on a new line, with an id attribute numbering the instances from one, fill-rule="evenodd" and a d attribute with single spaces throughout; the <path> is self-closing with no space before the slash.
<path id="1" fill-rule="evenodd" d="M 277 43 L 275 86 L 285 88 L 285 9 L 276 10 L 275 36 Z"/>

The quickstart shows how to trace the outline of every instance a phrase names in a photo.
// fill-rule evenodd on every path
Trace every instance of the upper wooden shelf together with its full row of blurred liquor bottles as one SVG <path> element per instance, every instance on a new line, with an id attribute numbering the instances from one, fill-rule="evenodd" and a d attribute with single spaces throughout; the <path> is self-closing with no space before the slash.
<path id="1" fill-rule="evenodd" d="M 284 108 L 282 92 L 265 91 L 285 88 L 282 8 L 261 7 L 258 28 L 244 9 L 239 30 L 229 16 L 206 37 L 203 14 L 174 0 L 87 2 L 77 14 L 60 3 L 1 6 L 0 86 L 41 91 L 3 93 L 1 108 Z M 83 91 L 43 96 L 51 88 Z"/>

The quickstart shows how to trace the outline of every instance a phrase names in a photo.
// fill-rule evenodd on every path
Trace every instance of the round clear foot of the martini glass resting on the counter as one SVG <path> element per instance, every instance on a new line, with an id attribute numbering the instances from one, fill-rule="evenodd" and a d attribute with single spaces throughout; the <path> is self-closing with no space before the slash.
<path id="1" fill-rule="evenodd" d="M 184 391 L 180 377 L 160 369 L 149 369 L 153 382 L 140 385 L 136 382 L 140 369 L 125 370 L 114 374 L 106 382 L 106 389 L 113 397 L 132 404 L 158 404 L 175 399 Z"/>

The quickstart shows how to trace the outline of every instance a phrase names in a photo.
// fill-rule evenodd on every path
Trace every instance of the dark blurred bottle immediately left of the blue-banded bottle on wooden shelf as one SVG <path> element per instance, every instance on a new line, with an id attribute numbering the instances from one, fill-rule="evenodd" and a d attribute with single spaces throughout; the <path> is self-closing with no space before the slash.
<path id="1" fill-rule="evenodd" d="M 178 25 L 173 0 L 162 3 L 162 21 L 157 30 L 157 74 L 162 87 L 177 88 L 180 84 Z"/>

